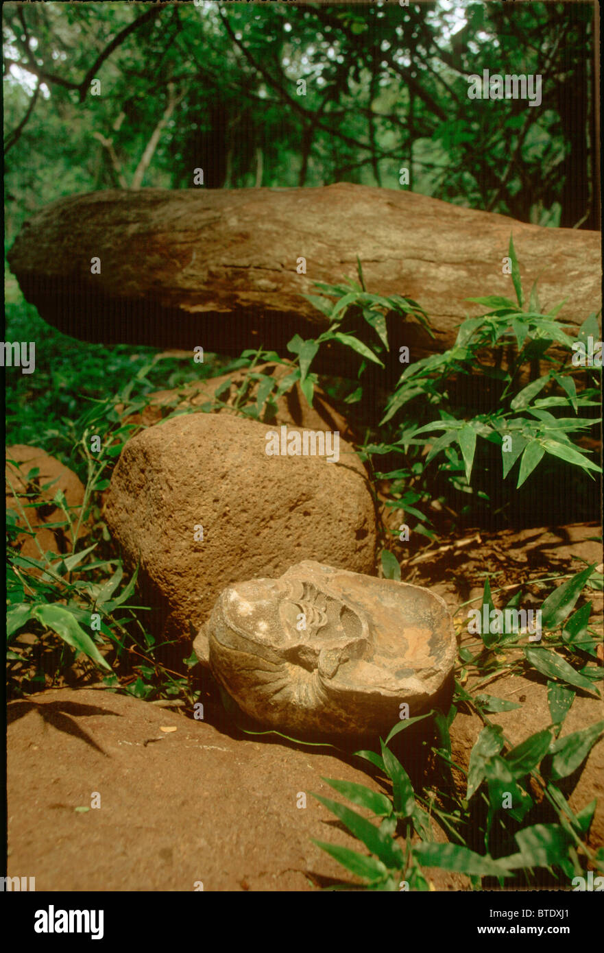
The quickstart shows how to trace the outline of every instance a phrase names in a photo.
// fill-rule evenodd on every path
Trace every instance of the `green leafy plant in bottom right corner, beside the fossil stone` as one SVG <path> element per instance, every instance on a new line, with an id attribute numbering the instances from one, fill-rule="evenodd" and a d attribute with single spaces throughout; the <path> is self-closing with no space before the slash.
<path id="1" fill-rule="evenodd" d="M 587 634 L 589 609 L 581 607 L 574 616 L 571 614 L 593 569 L 590 566 L 575 574 L 543 601 L 541 613 L 547 628 L 547 647 L 522 646 L 521 639 L 524 641 L 526 636 L 504 630 L 496 633 L 495 639 L 483 636 L 483 649 L 477 655 L 464 646 L 459 650 L 458 669 L 464 673 L 475 667 L 478 675 L 488 673 L 492 680 L 497 668 L 510 673 L 516 667 L 518 671 L 534 667 L 544 674 L 549 679 L 551 725 L 513 745 L 489 715 L 518 708 L 519 704 L 479 691 L 481 681 L 472 692 L 457 681 L 453 706 L 446 716 L 432 711 L 402 720 L 386 740 L 380 740 L 380 754 L 356 752 L 378 769 L 382 782 L 390 789 L 388 795 L 362 784 L 324 779 L 338 794 L 371 815 L 368 819 L 338 801 L 313 795 L 369 849 L 367 856 L 347 847 L 314 841 L 360 877 L 365 889 L 429 890 L 426 868 L 430 867 L 465 874 L 474 889 L 479 889 L 485 879 L 494 879 L 499 886 L 510 885 L 512 878 L 513 882 L 533 883 L 537 868 L 546 868 L 558 880 L 567 881 L 580 875 L 586 862 L 604 870 L 600 855 L 586 842 L 595 801 L 575 814 L 559 784 L 581 765 L 604 734 L 604 720 L 564 738 L 557 737 L 574 699 L 572 686 L 596 693 L 594 680 L 602 677 L 595 666 L 590 667 L 589 675 L 585 666 L 580 671 L 576 668 L 577 655 L 589 656 L 594 649 L 595 642 L 590 637 L 581 642 L 580 648 L 571 648 L 568 638 L 561 638 L 579 613 L 583 628 L 579 629 L 577 623 L 574 631 Z M 488 581 L 482 606 L 489 612 L 493 609 Z M 520 659 L 514 659 L 511 665 L 502 660 L 502 653 L 511 654 L 513 649 L 517 656 L 518 647 L 523 651 Z M 566 651 L 574 665 L 563 659 L 556 648 Z M 465 790 L 459 792 L 454 783 L 446 785 L 436 797 L 430 790 L 413 790 L 409 775 L 389 745 L 400 732 L 423 720 L 424 727 L 428 726 L 436 739 L 433 755 L 448 775 L 453 765 L 449 730 L 461 706 L 469 706 L 484 721 L 470 755 Z M 454 767 L 463 771 L 459 764 Z M 542 800 L 557 821 L 535 822 L 536 805 Z M 433 840 L 431 818 L 447 830 L 453 842 Z M 480 839 L 482 849 L 477 850 Z"/>

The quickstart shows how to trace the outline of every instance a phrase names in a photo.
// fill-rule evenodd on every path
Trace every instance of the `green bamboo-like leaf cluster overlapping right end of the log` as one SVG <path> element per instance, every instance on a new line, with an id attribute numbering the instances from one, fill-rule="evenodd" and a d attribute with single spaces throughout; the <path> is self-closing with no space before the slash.
<path id="1" fill-rule="evenodd" d="M 425 437 L 418 436 L 442 431 L 433 440 L 426 463 L 437 456 L 445 456 L 441 466 L 450 470 L 453 482 L 459 484 L 460 471 L 468 486 L 471 484 L 476 441 L 480 437 L 501 448 L 502 476 L 511 475 L 514 464 L 519 461 L 516 487 L 522 486 L 546 454 L 559 457 L 585 472 L 601 473 L 601 467 L 591 460 L 588 452 L 575 445 L 570 435 L 586 430 L 600 422 L 600 418 L 581 418 L 579 408 L 599 405 L 598 389 L 586 388 L 576 391 L 574 377 L 577 370 L 568 367 L 574 337 L 567 334 L 569 328 L 555 320 L 562 304 L 556 305 L 548 314 L 538 311 L 536 282 L 530 301 L 523 306 L 523 294 L 518 262 L 510 238 L 509 255 L 513 264 L 513 285 L 517 303 L 500 296 L 478 297 L 470 300 L 492 310 L 482 317 L 465 320 L 452 349 L 442 355 L 431 355 L 415 361 L 401 375 L 382 424 L 391 420 L 415 398 L 427 400 L 425 406 L 440 416 L 421 426 L 413 427 L 413 419 L 400 425 L 402 435 L 399 444 L 406 448 L 425 445 Z M 577 341 L 588 335 L 598 335 L 595 314 L 584 321 Z M 565 350 L 558 358 L 557 366 L 546 374 L 536 376 L 521 386 L 521 370 L 529 365 L 536 373 L 538 361 L 545 360 L 556 365 L 556 359 L 548 354 L 551 345 Z M 514 345 L 517 351 L 513 354 Z M 485 364 L 480 356 L 489 349 L 495 354 L 495 363 Z M 502 369 L 502 354 L 513 355 L 508 367 Z M 597 372 L 594 367 L 594 373 Z M 469 417 L 459 413 L 447 402 L 448 382 L 453 375 L 473 375 L 497 382 L 498 399 L 487 413 Z M 414 405 L 413 405 L 414 406 Z M 555 416 L 553 411 L 562 411 L 572 416 Z M 455 450 L 454 446 L 458 448 Z M 459 456 L 460 455 L 460 456 Z M 460 462 L 463 467 L 460 467 Z"/>

